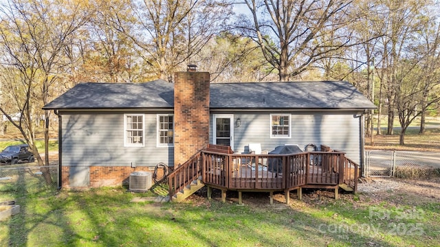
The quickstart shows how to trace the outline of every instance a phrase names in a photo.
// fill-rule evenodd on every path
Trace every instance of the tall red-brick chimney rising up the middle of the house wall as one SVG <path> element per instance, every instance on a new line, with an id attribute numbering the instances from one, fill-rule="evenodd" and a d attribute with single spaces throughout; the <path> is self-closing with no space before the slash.
<path id="1" fill-rule="evenodd" d="M 174 85 L 174 164 L 183 164 L 209 143 L 209 72 L 175 73 Z"/>

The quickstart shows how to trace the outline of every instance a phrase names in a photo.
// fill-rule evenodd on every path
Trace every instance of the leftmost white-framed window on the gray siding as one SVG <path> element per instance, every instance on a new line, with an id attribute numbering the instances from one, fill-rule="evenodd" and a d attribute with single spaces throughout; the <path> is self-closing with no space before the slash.
<path id="1" fill-rule="evenodd" d="M 126 147 L 144 146 L 144 115 L 124 115 L 124 145 Z"/>

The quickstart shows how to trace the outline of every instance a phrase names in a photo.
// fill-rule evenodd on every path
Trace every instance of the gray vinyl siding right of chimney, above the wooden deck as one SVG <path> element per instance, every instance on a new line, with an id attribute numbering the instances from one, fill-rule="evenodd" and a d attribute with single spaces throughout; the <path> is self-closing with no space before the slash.
<path id="1" fill-rule="evenodd" d="M 276 114 L 274 111 L 272 114 Z M 271 113 L 236 113 L 241 126 L 234 126 L 234 152 L 248 153 L 249 143 L 261 143 L 262 150 L 274 150 L 278 145 L 298 144 L 304 149 L 309 143 L 320 148 L 329 145 L 333 150 L 346 152 L 347 157 L 361 164 L 360 117 L 353 113 L 292 114 L 291 137 L 273 138 L 270 132 Z M 279 113 L 288 115 L 289 113 Z M 213 121 L 211 121 L 213 122 Z M 212 141 L 212 128 L 210 137 Z"/>

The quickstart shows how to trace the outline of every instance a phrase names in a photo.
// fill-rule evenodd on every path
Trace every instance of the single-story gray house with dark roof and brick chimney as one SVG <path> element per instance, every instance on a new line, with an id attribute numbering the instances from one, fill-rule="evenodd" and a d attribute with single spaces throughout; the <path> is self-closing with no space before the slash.
<path id="1" fill-rule="evenodd" d="M 210 83 L 192 69 L 175 83 L 78 84 L 43 107 L 59 118 L 60 187 L 122 185 L 208 143 L 238 153 L 249 143 L 324 144 L 362 166 L 363 116 L 373 108 L 349 82 Z"/>

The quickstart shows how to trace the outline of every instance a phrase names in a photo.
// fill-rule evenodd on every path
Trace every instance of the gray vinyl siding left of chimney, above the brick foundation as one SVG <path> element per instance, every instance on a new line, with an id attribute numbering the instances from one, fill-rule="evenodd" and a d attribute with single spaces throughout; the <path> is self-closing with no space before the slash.
<path id="1" fill-rule="evenodd" d="M 63 113 L 63 166 L 173 166 L 173 148 L 157 148 L 156 113 L 144 114 L 144 147 L 124 147 L 124 113 Z"/>

